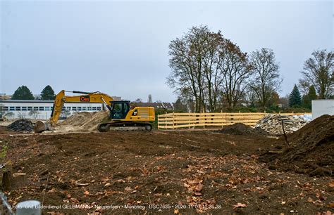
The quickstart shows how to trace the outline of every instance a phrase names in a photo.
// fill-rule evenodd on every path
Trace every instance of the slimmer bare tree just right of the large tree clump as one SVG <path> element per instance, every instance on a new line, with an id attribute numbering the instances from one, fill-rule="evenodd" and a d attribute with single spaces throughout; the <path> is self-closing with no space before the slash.
<path id="1" fill-rule="evenodd" d="M 250 64 L 254 71 L 254 77 L 250 86 L 256 93 L 261 107 L 265 109 L 268 107 L 268 101 L 273 92 L 280 89 L 282 82 L 275 53 L 269 48 L 256 50 L 250 56 Z"/>

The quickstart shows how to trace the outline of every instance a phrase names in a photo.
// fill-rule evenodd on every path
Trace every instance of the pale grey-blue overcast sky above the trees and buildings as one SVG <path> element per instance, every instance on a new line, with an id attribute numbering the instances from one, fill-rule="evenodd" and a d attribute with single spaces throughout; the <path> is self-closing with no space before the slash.
<path id="1" fill-rule="evenodd" d="M 333 49 L 332 1 L 1 1 L 0 93 L 26 85 L 173 102 L 168 44 L 208 25 L 252 52 L 272 48 L 285 96 L 317 48 Z"/>

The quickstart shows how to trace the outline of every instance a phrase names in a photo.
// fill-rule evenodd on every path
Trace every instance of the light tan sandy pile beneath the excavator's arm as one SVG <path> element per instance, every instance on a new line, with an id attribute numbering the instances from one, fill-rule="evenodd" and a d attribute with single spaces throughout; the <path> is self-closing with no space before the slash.
<path id="1" fill-rule="evenodd" d="M 59 125 L 78 126 L 78 131 L 94 131 L 101 121 L 108 117 L 109 111 L 99 112 L 78 112 L 68 117 Z"/>

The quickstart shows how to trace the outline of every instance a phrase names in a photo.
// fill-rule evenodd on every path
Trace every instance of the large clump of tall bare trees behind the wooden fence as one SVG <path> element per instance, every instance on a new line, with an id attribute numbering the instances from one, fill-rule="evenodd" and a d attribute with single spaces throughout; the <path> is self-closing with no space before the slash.
<path id="1" fill-rule="evenodd" d="M 183 100 L 193 100 L 196 112 L 216 110 L 221 98 L 233 107 L 244 96 L 252 73 L 247 55 L 220 31 L 192 27 L 184 37 L 171 41 L 169 50 L 168 84 Z"/>

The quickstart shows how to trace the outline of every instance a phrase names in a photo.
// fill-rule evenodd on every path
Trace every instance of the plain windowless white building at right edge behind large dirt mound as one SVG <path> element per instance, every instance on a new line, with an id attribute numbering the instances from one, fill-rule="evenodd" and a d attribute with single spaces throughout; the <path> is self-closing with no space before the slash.
<path id="1" fill-rule="evenodd" d="M 321 115 L 334 115 L 334 99 L 312 100 L 312 119 Z"/>

